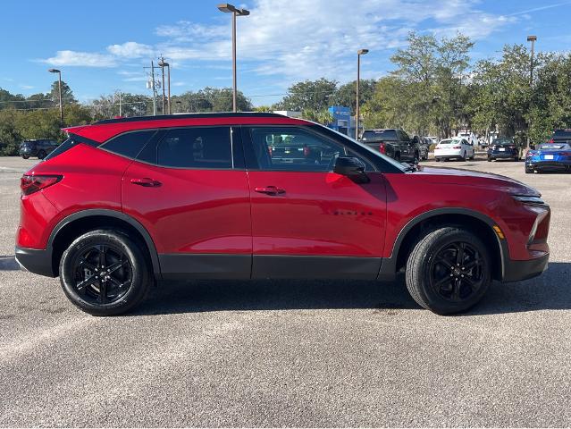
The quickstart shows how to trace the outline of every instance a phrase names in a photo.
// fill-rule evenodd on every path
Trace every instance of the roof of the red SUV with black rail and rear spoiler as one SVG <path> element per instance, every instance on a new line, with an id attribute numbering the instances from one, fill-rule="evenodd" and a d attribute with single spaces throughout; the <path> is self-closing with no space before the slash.
<path id="1" fill-rule="evenodd" d="M 115 118 L 95 122 L 92 125 L 80 125 L 65 128 L 68 134 L 104 142 L 122 132 L 132 130 L 155 130 L 185 126 L 216 125 L 312 125 L 314 122 L 290 118 L 282 114 L 240 112 L 216 114 L 165 114 L 156 116 L 137 116 Z"/>

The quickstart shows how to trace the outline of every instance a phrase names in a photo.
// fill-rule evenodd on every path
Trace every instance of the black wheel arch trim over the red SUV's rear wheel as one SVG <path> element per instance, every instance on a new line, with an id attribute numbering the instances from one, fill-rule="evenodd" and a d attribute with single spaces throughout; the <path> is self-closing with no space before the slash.
<path id="1" fill-rule="evenodd" d="M 129 234 L 130 239 L 139 241 L 139 244 L 144 247 L 143 252 L 153 266 L 155 277 L 161 275 L 155 242 L 147 229 L 130 215 L 109 209 L 81 210 L 63 218 L 55 225 L 47 240 L 47 247 L 52 249 L 52 269 L 55 275 L 59 271 L 63 251 L 71 244 L 71 241 L 87 231 L 105 229 L 105 227 L 124 231 Z"/>

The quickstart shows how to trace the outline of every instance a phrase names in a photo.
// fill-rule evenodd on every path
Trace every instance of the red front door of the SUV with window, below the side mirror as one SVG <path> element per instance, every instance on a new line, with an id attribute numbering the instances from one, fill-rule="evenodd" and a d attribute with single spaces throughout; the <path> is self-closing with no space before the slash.
<path id="1" fill-rule="evenodd" d="M 369 165 L 371 181 L 358 184 L 332 172 L 336 157 L 355 154 L 315 127 L 253 126 L 242 135 L 252 204 L 252 276 L 376 278 L 386 221 L 382 173 Z M 305 159 L 273 157 L 269 147 L 276 140 L 307 147 Z"/>

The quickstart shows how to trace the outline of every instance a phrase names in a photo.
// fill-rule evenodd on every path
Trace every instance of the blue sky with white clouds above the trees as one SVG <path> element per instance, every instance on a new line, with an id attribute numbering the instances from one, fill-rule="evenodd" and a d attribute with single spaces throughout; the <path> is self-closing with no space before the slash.
<path id="1" fill-rule="evenodd" d="M 1 0 L 0 88 L 47 92 L 62 71 L 81 102 L 116 90 L 148 94 L 147 69 L 164 55 L 172 94 L 231 87 L 231 16 L 211 0 Z M 85 4 L 85 5 L 84 5 Z M 460 31 L 472 58 L 498 56 L 505 44 L 537 36 L 538 51 L 571 50 L 571 1 L 563 0 L 248 0 L 238 18 L 238 86 L 269 105 L 299 80 L 345 83 L 392 70 L 390 55 L 415 30 Z M 9 65 L 7 64 L 9 63 Z"/>

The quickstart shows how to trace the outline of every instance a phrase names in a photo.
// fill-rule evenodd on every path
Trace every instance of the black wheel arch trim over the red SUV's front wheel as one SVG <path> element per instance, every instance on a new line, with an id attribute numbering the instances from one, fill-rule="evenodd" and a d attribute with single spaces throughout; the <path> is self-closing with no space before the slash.
<path id="1" fill-rule="evenodd" d="M 473 231 L 490 248 L 492 259 L 492 277 L 500 280 L 504 277 L 506 258 L 509 257 L 506 239 L 500 240 L 491 217 L 463 207 L 447 207 L 430 210 L 411 219 L 399 232 L 392 246 L 389 258 L 384 259 L 379 278 L 389 280 L 407 263 L 407 257 L 417 240 L 425 231 L 439 226 L 461 226 Z"/>

